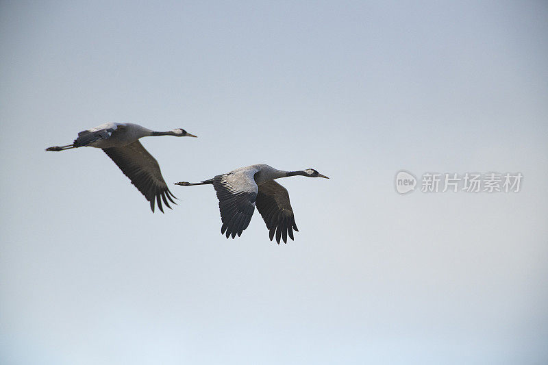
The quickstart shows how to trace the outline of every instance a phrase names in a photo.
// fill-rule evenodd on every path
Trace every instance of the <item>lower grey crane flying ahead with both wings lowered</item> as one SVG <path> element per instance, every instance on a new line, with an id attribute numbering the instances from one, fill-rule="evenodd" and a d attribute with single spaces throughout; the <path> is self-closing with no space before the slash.
<path id="1" fill-rule="evenodd" d="M 280 238 L 287 243 L 287 236 L 293 240 L 293 229 L 297 229 L 295 216 L 289 203 L 289 194 L 283 186 L 274 179 L 288 176 L 329 177 L 321 175 L 313 168 L 303 171 L 282 171 L 266 164 L 256 164 L 247 167 L 236 168 L 234 171 L 217 175 L 216 177 L 189 183 L 181 181 L 175 185 L 192 186 L 212 184 L 219 199 L 221 211 L 221 234 L 227 238 L 238 237 L 247 228 L 251 216 L 255 211 L 255 205 L 270 231 L 270 240 L 276 235 L 279 244 Z"/>

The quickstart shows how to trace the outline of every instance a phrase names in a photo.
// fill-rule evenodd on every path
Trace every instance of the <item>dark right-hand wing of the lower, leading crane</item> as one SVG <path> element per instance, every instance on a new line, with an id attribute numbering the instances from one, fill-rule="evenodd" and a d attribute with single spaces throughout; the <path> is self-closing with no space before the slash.
<path id="1" fill-rule="evenodd" d="M 287 243 L 287 236 L 293 239 L 293 229 L 297 229 L 295 216 L 289 203 L 287 189 L 276 181 L 268 181 L 259 186 L 257 194 L 257 209 L 270 231 L 270 240 L 276 234 L 276 241 L 279 244 L 280 236 Z"/>

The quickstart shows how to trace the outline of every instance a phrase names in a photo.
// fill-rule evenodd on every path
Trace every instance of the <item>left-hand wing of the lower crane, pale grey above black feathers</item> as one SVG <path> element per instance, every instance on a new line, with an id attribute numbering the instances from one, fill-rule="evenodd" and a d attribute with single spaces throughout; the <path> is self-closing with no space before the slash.
<path id="1" fill-rule="evenodd" d="M 258 191 L 253 173 L 255 171 L 240 171 L 213 178 L 223 223 L 221 234 L 226 234 L 227 238 L 239 237 L 251 221 Z"/>

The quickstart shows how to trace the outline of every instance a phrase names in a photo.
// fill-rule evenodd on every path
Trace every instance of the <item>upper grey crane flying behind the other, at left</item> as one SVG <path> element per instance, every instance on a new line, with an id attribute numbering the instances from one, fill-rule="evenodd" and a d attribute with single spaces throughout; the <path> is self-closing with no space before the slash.
<path id="1" fill-rule="evenodd" d="M 77 147 L 102 149 L 118 165 L 124 175 L 129 177 L 132 184 L 145 195 L 150 202 L 152 212 L 154 212 L 156 201 L 163 213 L 162 200 L 171 209 L 168 199 L 175 204 L 175 201 L 171 199 L 171 197 L 175 198 L 175 195 L 169 191 L 158 161 L 139 142 L 139 138 L 147 136 L 196 137 L 181 128 L 171 131 L 151 131 L 134 123 L 104 123 L 79 132 L 73 144 L 49 147 L 46 151 L 64 151 Z"/>

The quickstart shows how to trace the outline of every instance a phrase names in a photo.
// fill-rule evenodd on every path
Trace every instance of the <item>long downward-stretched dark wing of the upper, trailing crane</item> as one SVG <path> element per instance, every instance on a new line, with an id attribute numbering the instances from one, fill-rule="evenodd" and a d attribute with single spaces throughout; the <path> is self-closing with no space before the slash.
<path id="1" fill-rule="evenodd" d="M 123 147 L 110 147 L 103 149 L 105 153 L 114 161 L 121 171 L 129 177 L 132 184 L 150 202 L 150 208 L 154 212 L 154 201 L 158 202 L 158 207 L 164 212 L 162 200 L 165 205 L 171 209 L 168 203 L 175 204 L 171 197 L 175 196 L 169 191 L 166 181 L 162 177 L 160 165 L 152 155 L 142 147 L 137 140 Z"/>

